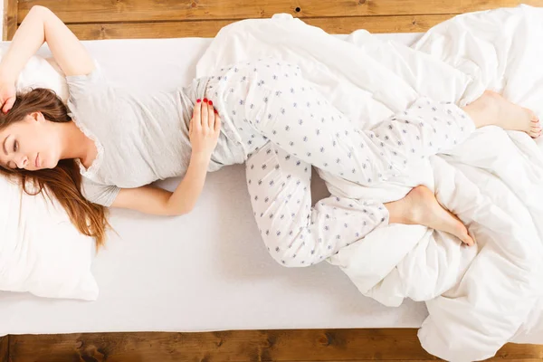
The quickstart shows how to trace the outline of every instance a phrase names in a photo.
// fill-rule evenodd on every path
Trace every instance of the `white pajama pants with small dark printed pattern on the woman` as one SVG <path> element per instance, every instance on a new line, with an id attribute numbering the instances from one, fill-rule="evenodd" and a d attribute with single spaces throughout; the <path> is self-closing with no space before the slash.
<path id="1" fill-rule="evenodd" d="M 376 129 L 357 129 L 299 67 L 273 59 L 234 65 L 212 83 L 210 98 L 248 156 L 262 239 L 285 266 L 321 262 L 388 224 L 386 207 L 371 200 L 331 195 L 312 207 L 311 166 L 362 186 L 401 181 L 410 163 L 453 148 L 475 129 L 463 110 L 426 98 Z"/>

